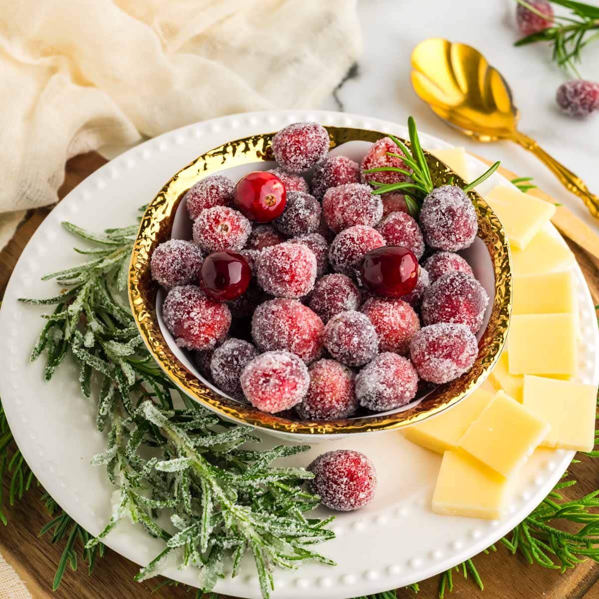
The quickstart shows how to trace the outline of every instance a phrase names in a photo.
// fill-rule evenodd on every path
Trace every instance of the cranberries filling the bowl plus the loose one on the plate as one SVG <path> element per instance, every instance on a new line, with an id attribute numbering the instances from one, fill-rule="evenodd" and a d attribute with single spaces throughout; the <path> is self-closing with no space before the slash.
<path id="1" fill-rule="evenodd" d="M 388 137 L 358 164 L 327 156 L 323 126 L 295 123 L 271 150 L 268 171 L 193 185 L 193 240 L 167 241 L 151 258 L 164 323 L 202 377 L 258 410 L 320 422 L 398 409 L 421 380 L 470 369 L 489 301 L 456 253 L 476 237 L 471 199 L 438 187 L 415 217 L 404 189 L 373 193 L 410 180 Z M 332 509 L 373 494 L 374 470 L 357 452 L 310 468 Z"/>

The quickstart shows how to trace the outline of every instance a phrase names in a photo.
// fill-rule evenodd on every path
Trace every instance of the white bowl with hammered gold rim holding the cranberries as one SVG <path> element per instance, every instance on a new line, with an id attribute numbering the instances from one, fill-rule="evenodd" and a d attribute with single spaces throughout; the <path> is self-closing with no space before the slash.
<path id="1" fill-rule="evenodd" d="M 374 141 L 385 133 L 367 129 L 327 126 L 331 155 L 360 161 Z M 479 231 L 473 245 L 460 252 L 473 268 L 489 298 L 483 326 L 477 334 L 479 353 L 473 367 L 456 380 L 429 388 L 416 400 L 391 412 L 344 420 L 292 420 L 261 412 L 224 394 L 202 377 L 191 352 L 177 347 L 162 321 L 164 290 L 150 276 L 150 256 L 170 238 L 190 239 L 192 223 L 183 196 L 197 181 L 214 173 L 236 181 L 250 171 L 274 166 L 266 133 L 230 141 L 202 154 L 175 174 L 148 205 L 135 241 L 129 270 L 129 301 L 146 346 L 173 383 L 193 400 L 225 419 L 249 424 L 269 434 L 297 441 L 317 441 L 344 434 L 405 428 L 437 415 L 467 397 L 488 376 L 507 337 L 512 298 L 510 254 L 506 234 L 497 216 L 476 192 L 468 193 L 476 208 Z M 425 152 L 435 186 L 453 180 L 465 185 L 449 167 Z M 309 177 L 308 177 L 309 178 Z"/>

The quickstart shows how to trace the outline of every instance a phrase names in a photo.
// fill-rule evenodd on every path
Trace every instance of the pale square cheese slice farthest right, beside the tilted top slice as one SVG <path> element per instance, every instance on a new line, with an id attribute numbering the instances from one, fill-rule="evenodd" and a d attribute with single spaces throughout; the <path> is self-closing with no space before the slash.
<path id="1" fill-rule="evenodd" d="M 549 422 L 544 447 L 591 451 L 595 444 L 597 387 L 544 377 L 524 377 L 524 407 Z"/>

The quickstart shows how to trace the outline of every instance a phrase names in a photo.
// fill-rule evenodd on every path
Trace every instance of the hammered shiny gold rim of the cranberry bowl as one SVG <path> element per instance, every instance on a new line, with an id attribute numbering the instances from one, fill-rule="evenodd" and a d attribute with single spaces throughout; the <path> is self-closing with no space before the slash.
<path id="1" fill-rule="evenodd" d="M 370 129 L 328 125 L 325 125 L 325 128 L 331 138 L 330 149 L 347 141 L 374 142 L 388 135 Z M 289 434 L 350 434 L 401 429 L 431 418 L 467 397 L 482 384 L 500 356 L 507 338 L 512 305 L 512 267 L 506 232 L 482 196 L 474 191 L 468 192 L 468 195 L 473 200 L 477 212 L 478 236 L 489 251 L 495 274 L 491 317 L 479 340 L 479 355 L 471 370 L 450 383 L 437 386 L 417 405 L 401 412 L 380 416 L 343 420 L 289 420 L 240 404 L 214 391 L 187 370 L 168 347 L 156 316 L 158 286 L 150 277 L 150 256 L 153 249 L 170 238 L 179 202 L 193 183 L 231 167 L 272 160 L 270 141 L 274 133 L 229 141 L 205 152 L 171 177 L 147 205 L 132 250 L 128 293 L 135 323 L 153 358 L 182 392 L 223 418 Z M 464 181 L 443 162 L 428 152 L 425 152 L 425 155 L 435 186 L 447 183 L 451 178 L 464 184 Z"/>

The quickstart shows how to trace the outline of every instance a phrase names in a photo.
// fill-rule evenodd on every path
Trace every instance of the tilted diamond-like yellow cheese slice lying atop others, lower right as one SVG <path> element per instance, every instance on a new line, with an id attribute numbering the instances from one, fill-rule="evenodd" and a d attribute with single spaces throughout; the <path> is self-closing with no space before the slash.
<path id="1" fill-rule="evenodd" d="M 498 391 L 464 433 L 459 447 L 509 479 L 520 470 L 550 428 L 518 401 Z"/>

